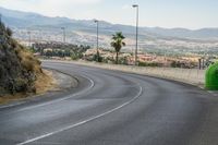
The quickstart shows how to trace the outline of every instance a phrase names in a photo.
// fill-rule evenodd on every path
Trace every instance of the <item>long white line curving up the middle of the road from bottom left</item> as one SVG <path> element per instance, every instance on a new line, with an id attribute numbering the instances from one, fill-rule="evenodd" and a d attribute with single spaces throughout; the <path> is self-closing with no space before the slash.
<path id="1" fill-rule="evenodd" d="M 122 105 L 119 106 L 119 107 L 116 107 L 116 108 L 113 108 L 113 109 L 111 109 L 111 110 L 109 110 L 109 111 L 106 111 L 106 112 L 104 112 L 104 113 L 100 113 L 100 114 L 98 114 L 98 116 L 95 116 L 95 117 L 93 117 L 93 118 L 89 118 L 89 119 L 87 119 L 87 120 L 81 121 L 81 122 L 78 122 L 78 123 L 69 125 L 69 126 L 63 128 L 63 129 L 61 129 L 61 130 L 58 130 L 58 131 L 55 131 L 55 132 L 51 132 L 51 133 L 44 134 L 44 135 L 40 135 L 40 136 L 35 137 L 35 138 L 32 138 L 32 140 L 27 140 L 27 141 L 25 141 L 25 142 L 22 142 L 22 143 L 16 144 L 16 145 L 25 145 L 25 144 L 28 144 L 28 143 L 33 143 L 33 142 L 35 142 L 35 141 L 38 141 L 38 140 L 41 140 L 41 138 L 51 136 L 51 135 L 57 134 L 57 133 L 59 133 L 59 132 L 63 132 L 63 131 L 73 129 L 73 128 L 75 128 L 75 126 L 85 124 L 85 123 L 87 123 L 87 122 L 90 122 L 90 121 L 93 121 L 93 120 L 96 120 L 96 119 L 98 119 L 98 118 L 101 118 L 101 117 L 104 117 L 104 116 L 106 116 L 106 114 L 109 114 L 109 113 L 111 113 L 111 112 L 114 112 L 116 110 L 119 110 L 119 109 L 123 108 L 124 106 L 130 105 L 131 102 L 133 102 L 134 100 L 136 100 L 136 99 L 142 95 L 142 92 L 143 92 L 143 88 L 142 88 L 142 86 L 140 86 L 140 92 L 138 92 L 138 94 L 137 94 L 134 98 L 132 98 L 131 100 L 129 100 L 129 101 L 122 104 Z"/>

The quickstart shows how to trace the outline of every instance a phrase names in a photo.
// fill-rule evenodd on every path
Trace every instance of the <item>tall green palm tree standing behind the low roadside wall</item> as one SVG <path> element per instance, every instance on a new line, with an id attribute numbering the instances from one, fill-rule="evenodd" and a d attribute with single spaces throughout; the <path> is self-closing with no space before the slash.
<path id="1" fill-rule="evenodd" d="M 116 50 L 116 63 L 118 64 L 118 56 L 123 46 L 125 46 L 125 43 L 123 41 L 125 37 L 122 35 L 122 32 L 118 32 L 114 35 L 112 35 L 112 41 L 111 47 Z"/>

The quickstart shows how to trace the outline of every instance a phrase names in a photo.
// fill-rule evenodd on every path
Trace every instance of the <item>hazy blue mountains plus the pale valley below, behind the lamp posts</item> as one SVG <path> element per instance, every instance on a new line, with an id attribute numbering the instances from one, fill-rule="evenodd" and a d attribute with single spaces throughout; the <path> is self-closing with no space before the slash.
<path id="1" fill-rule="evenodd" d="M 14 32 L 14 37 L 28 41 L 62 41 L 65 27 L 66 43 L 96 46 L 96 24 L 94 20 L 72 20 L 49 17 L 32 12 L 21 12 L 0 8 L 2 21 Z M 187 22 L 186 22 L 187 23 Z M 99 22 L 99 45 L 110 48 L 111 35 L 122 32 L 126 37 L 126 47 L 135 48 L 135 26 Z M 138 45 L 141 51 L 159 55 L 216 55 L 218 53 L 218 28 L 161 28 L 140 27 Z"/>

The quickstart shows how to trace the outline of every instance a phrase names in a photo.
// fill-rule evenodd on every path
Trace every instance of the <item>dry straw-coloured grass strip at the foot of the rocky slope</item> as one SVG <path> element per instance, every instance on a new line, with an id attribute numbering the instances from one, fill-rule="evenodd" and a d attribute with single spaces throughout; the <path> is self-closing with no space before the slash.
<path id="1" fill-rule="evenodd" d="M 0 104 L 8 104 L 14 100 L 21 100 L 33 95 L 41 95 L 57 87 L 57 81 L 52 77 L 52 72 L 44 70 L 44 73 L 37 73 L 35 82 L 36 94 L 16 93 L 14 95 L 0 96 Z"/>

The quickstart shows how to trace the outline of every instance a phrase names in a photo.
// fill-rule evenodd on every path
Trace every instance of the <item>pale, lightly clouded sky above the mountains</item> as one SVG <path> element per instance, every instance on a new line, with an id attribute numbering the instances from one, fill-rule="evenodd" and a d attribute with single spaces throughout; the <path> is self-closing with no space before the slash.
<path id="1" fill-rule="evenodd" d="M 218 27 L 218 0 L 0 0 L 12 10 L 126 25 L 135 25 L 133 3 L 140 5 L 140 26 Z"/>

